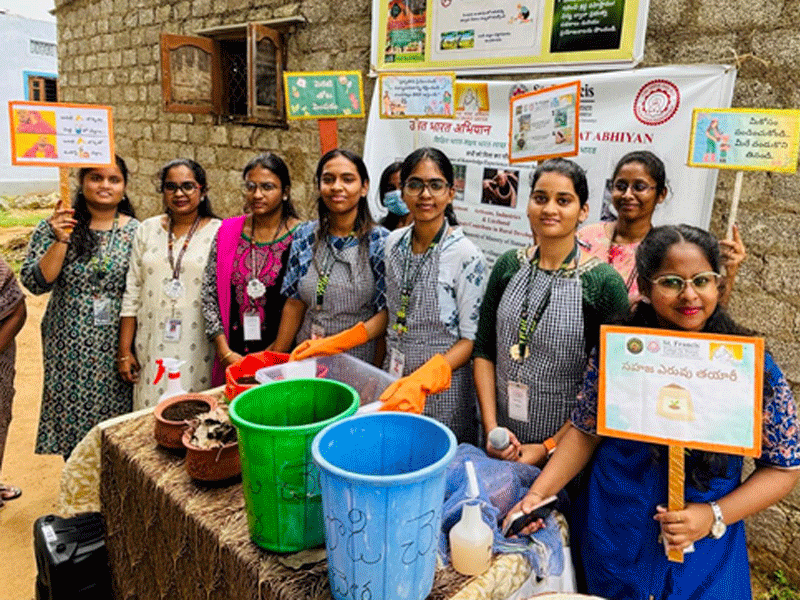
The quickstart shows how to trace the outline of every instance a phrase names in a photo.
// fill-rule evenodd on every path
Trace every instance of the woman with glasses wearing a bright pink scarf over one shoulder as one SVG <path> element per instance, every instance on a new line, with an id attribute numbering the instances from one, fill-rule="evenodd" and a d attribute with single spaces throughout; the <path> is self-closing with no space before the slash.
<path id="1" fill-rule="evenodd" d="M 300 222 L 283 159 L 257 156 L 242 177 L 249 214 L 222 222 L 203 276 L 206 336 L 217 353 L 214 386 L 225 382 L 228 365 L 275 341 L 284 303 L 281 284 Z"/>

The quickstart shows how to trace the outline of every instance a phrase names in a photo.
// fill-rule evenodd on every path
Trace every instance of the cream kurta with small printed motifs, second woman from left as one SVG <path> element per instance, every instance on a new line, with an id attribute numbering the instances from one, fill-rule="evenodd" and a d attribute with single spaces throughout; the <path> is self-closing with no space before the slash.
<path id="1" fill-rule="evenodd" d="M 180 280 L 186 291 L 174 301 L 164 293 L 164 281 L 172 278 L 172 268 L 167 259 L 168 234 L 161 220 L 161 215 L 145 220 L 136 233 L 122 302 L 121 316 L 136 317 L 136 359 L 142 370 L 133 392 L 135 410 L 155 406 L 166 391 L 166 377 L 153 385 L 157 358 L 185 361 L 180 369 L 185 390 L 201 392 L 211 387 L 214 348 L 205 336 L 200 289 L 208 251 L 220 220 L 212 219 L 192 237 L 180 270 Z M 184 239 L 185 235 L 175 240 L 175 260 Z M 164 327 L 170 319 L 180 320 L 181 333 L 177 342 L 164 339 Z"/>

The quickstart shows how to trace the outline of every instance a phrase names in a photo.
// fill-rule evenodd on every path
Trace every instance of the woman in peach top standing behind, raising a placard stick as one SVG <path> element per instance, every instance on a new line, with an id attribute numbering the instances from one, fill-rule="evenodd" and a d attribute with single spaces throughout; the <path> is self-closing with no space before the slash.
<path id="1" fill-rule="evenodd" d="M 639 299 L 635 255 L 639 242 L 653 227 L 653 213 L 667 197 L 664 163 L 652 152 L 637 150 L 623 156 L 612 175 L 611 198 L 617 220 L 587 225 L 578 239 L 587 252 L 613 266 L 622 275 L 631 302 Z M 720 240 L 726 284 L 722 304 L 727 303 L 733 280 L 744 260 L 745 249 L 734 226 L 733 240 Z"/>

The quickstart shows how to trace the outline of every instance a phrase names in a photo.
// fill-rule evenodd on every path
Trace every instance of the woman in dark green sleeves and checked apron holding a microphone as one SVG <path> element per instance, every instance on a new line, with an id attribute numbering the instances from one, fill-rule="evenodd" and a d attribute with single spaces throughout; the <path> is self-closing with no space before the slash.
<path id="1" fill-rule="evenodd" d="M 575 238 L 589 212 L 586 174 L 552 159 L 533 175 L 528 219 L 538 246 L 495 263 L 480 311 L 474 374 L 486 438 L 509 430 L 490 456 L 541 464 L 566 431 L 600 323 L 628 309 L 625 285 Z"/>

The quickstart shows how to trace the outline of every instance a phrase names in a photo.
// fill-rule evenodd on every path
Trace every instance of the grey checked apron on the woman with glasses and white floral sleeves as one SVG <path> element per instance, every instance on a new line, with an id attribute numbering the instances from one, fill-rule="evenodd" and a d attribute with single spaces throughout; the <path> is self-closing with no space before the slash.
<path id="1" fill-rule="evenodd" d="M 410 231 L 410 230 L 409 230 Z M 409 234 L 410 235 L 410 234 Z M 450 333 L 440 318 L 437 282 L 439 274 L 439 256 L 444 240 L 431 253 L 411 292 L 406 325 L 408 331 L 399 335 L 393 325 L 397 322 L 397 309 L 400 307 L 400 289 L 403 283 L 403 265 L 409 250 L 405 242 L 407 236 L 401 237 L 386 255 L 386 303 L 389 310 L 389 326 L 386 334 L 386 358 L 384 370 L 389 370 L 392 348 L 397 348 L 405 355 L 403 375 L 412 373 L 426 363 L 434 354 L 444 354 L 459 338 Z M 414 273 L 424 254 L 411 254 L 409 271 Z M 450 388 L 428 396 L 422 414 L 433 417 L 447 425 L 455 434 L 459 443 L 475 444 L 478 439 L 477 396 L 472 379 L 472 362 L 453 371 Z"/>

